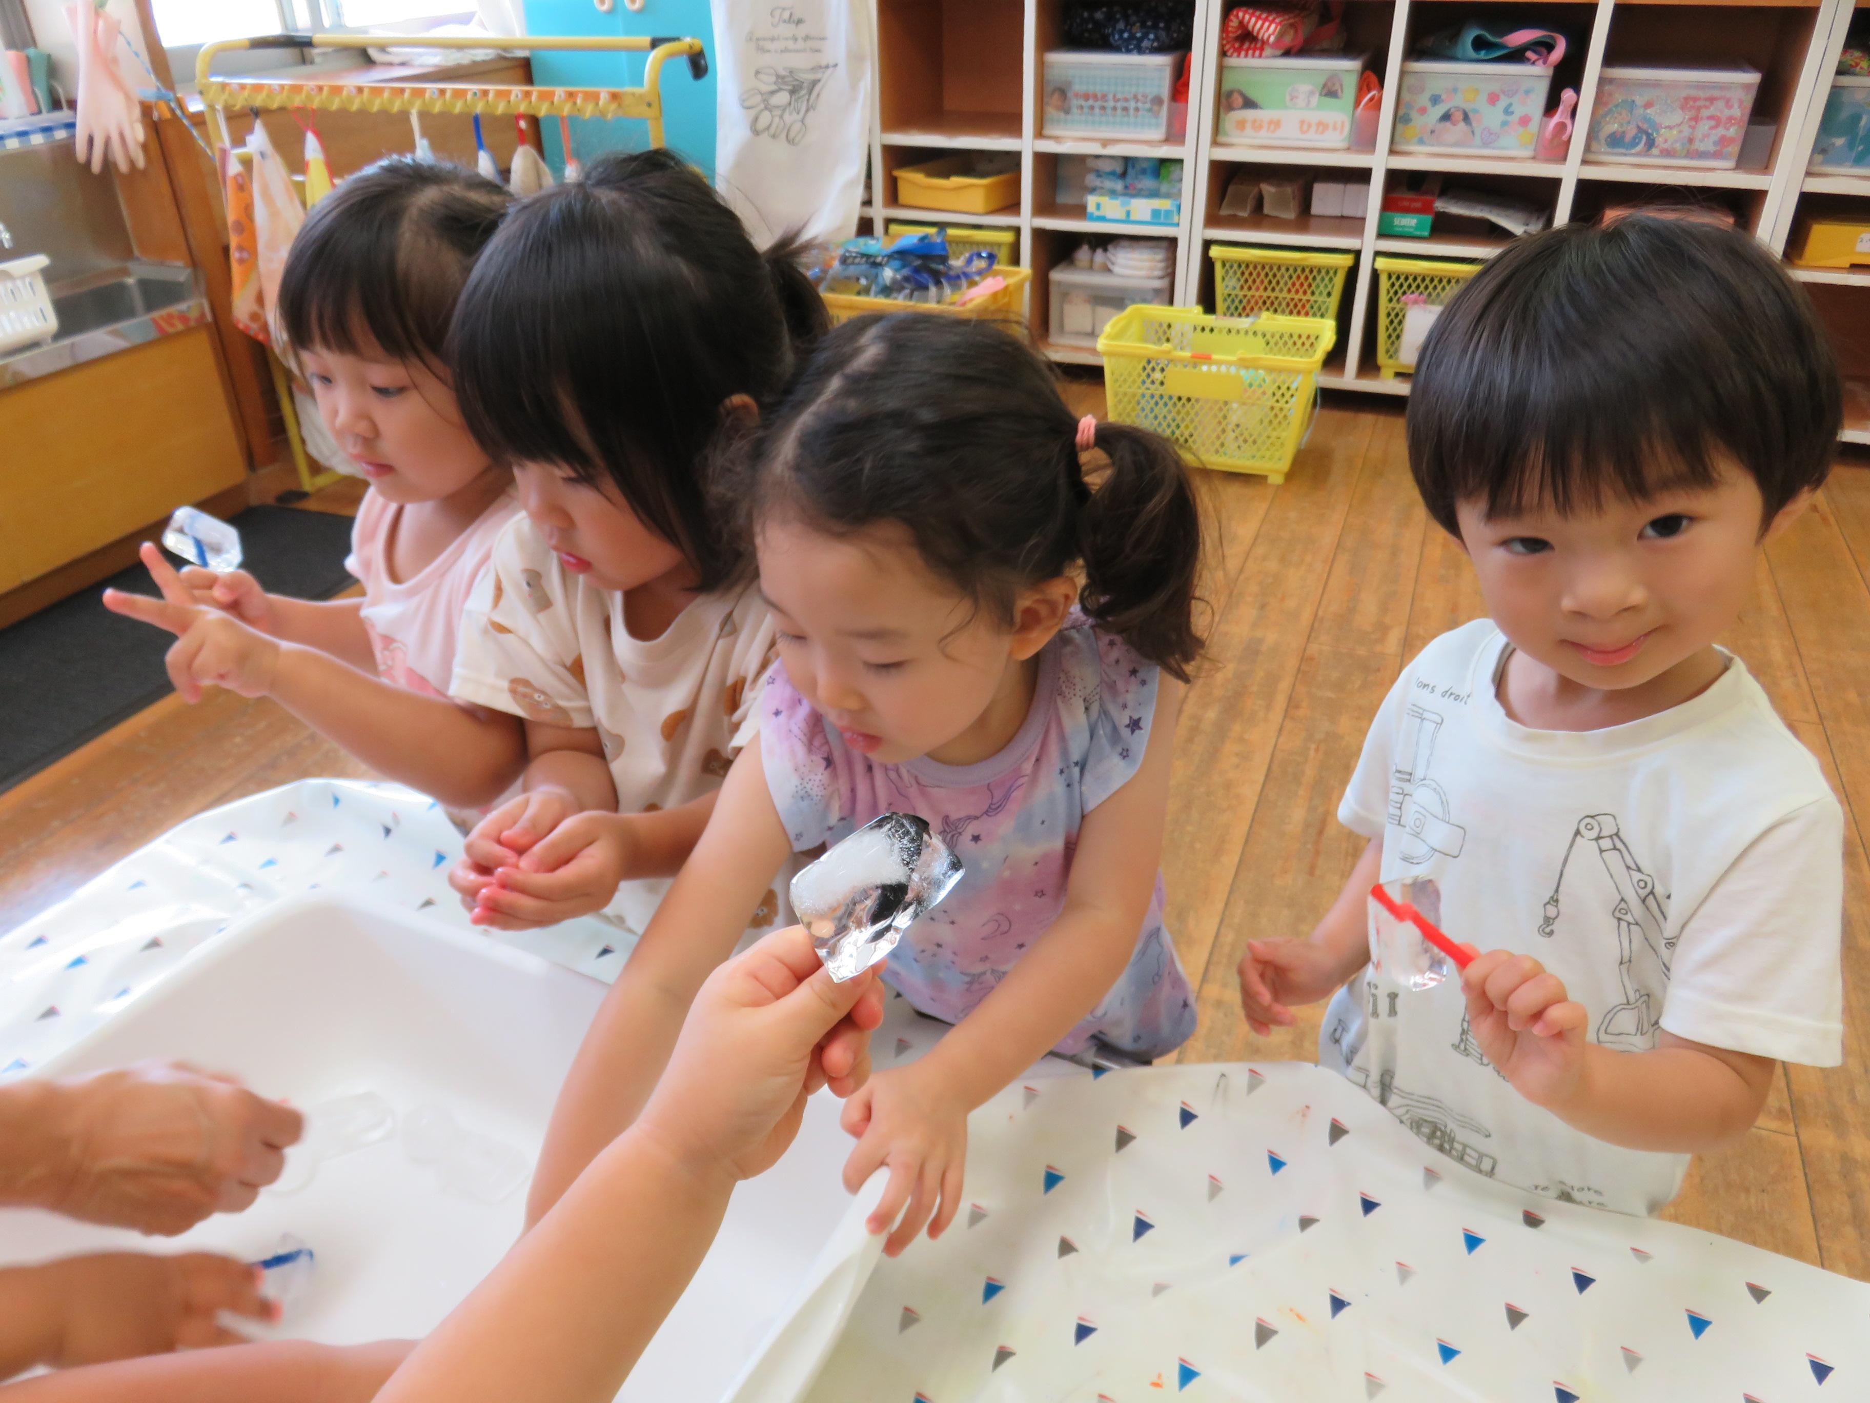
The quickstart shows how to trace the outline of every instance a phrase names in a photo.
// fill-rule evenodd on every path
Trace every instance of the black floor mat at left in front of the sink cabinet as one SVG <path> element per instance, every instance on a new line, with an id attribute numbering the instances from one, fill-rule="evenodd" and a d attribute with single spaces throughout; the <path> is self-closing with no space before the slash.
<path id="1" fill-rule="evenodd" d="M 350 516 L 290 507 L 249 507 L 234 518 L 243 569 L 269 591 L 329 599 L 352 584 L 344 572 Z M 94 735 L 168 692 L 163 655 L 176 642 L 161 629 L 122 619 L 101 602 L 107 587 L 153 595 L 142 565 L 82 589 L 11 629 L 0 629 L 0 789 L 45 769 Z"/>

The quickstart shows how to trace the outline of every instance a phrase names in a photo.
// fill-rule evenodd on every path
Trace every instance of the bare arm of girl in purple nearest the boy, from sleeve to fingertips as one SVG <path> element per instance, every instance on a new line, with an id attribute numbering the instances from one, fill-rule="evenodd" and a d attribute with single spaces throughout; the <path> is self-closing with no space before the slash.
<path id="1" fill-rule="evenodd" d="M 933 1051 L 877 1072 L 845 1104 L 843 1126 L 858 1135 L 845 1188 L 890 1169 L 870 1216 L 873 1233 L 896 1223 L 885 1251 L 901 1251 L 924 1223 L 941 1237 L 961 1205 L 969 1111 L 1051 1051 L 1129 963 L 1161 866 L 1178 705 L 1180 688 L 1165 681 L 1143 763 L 1085 816 L 1051 928 Z"/>

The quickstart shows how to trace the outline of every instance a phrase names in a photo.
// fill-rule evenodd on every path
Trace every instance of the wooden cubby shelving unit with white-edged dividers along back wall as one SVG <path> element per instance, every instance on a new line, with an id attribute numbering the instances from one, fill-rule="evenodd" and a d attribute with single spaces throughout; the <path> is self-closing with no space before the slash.
<path id="1" fill-rule="evenodd" d="M 1382 193 L 1417 172 L 1440 172 L 1449 183 L 1500 189 L 1548 202 L 1554 223 L 1595 219 L 1606 204 L 1653 193 L 1719 202 L 1735 211 L 1767 247 L 1782 253 L 1803 213 L 1816 208 L 1870 217 L 1870 172 L 1806 172 L 1838 52 L 1859 0 L 1528 0 L 1515 9 L 1571 36 L 1571 52 L 1552 84 L 1578 90 L 1578 131 L 1565 161 L 1489 159 L 1459 152 L 1391 152 L 1393 95 L 1402 60 L 1425 34 L 1498 11 L 1487 0 L 1348 0 L 1350 52 L 1369 52 L 1382 77 L 1386 103 L 1369 152 L 1305 152 L 1223 146 L 1214 140 L 1221 73 L 1221 21 L 1236 0 L 1197 0 L 1187 137 L 1180 144 L 1047 140 L 1038 135 L 1040 75 L 1047 49 L 1062 47 L 1064 0 L 873 0 L 879 34 L 879 110 L 871 140 L 877 198 L 894 196 L 890 172 L 909 157 L 948 150 L 1019 152 L 1021 200 L 995 215 L 954 215 L 866 208 L 883 221 L 999 224 L 1019 230 L 1019 258 L 1032 268 L 1032 325 L 1042 348 L 1058 361 L 1098 365 L 1096 352 L 1047 346 L 1047 273 L 1086 234 L 1135 234 L 1174 243 L 1176 299 L 1214 305 L 1208 249 L 1214 243 L 1352 251 L 1358 264 L 1339 312 L 1339 342 L 1320 374 L 1328 389 L 1408 395 L 1408 376 L 1384 380 L 1374 363 L 1376 254 L 1475 260 L 1511 241 L 1477 221 L 1438 221 L 1427 239 L 1378 238 Z M 1870 7 L 1870 0 L 1861 0 Z M 1012 45 L 1017 39 L 1017 64 Z M 1000 45 L 987 52 L 989 41 Z M 1754 122 L 1775 123 L 1765 165 L 1741 170 L 1619 165 L 1588 161 L 1584 129 L 1606 64 L 1719 65 L 1747 62 L 1762 71 Z M 1186 163 L 1182 223 L 1167 226 L 1101 224 L 1083 206 L 1060 206 L 1053 195 L 1060 155 L 1161 155 Z M 1361 219 L 1270 219 L 1219 213 L 1227 181 L 1242 166 L 1309 170 L 1328 180 L 1367 180 L 1369 213 Z M 866 226 L 864 232 L 870 232 Z M 1844 438 L 1870 443 L 1870 269 L 1791 269 L 1833 324 L 1846 365 Z M 1859 344 L 1861 342 L 1861 344 Z"/>

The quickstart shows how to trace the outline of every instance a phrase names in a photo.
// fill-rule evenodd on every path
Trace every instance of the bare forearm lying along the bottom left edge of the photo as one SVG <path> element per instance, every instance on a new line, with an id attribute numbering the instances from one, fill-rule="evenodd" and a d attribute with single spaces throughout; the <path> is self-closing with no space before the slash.
<path id="1" fill-rule="evenodd" d="M 0 1403 L 368 1403 L 411 1349 L 413 1339 L 191 1349 L 22 1379 L 0 1388 Z"/>

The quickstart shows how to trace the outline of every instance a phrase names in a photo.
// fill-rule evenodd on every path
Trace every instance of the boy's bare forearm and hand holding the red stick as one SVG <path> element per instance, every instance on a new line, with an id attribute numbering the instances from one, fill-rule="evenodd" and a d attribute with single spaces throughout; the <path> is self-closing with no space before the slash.
<path id="1" fill-rule="evenodd" d="M 1588 1042 L 1590 1014 L 1528 954 L 1490 950 L 1462 975 L 1487 1061 L 1573 1130 L 1633 1150 L 1700 1154 L 1745 1135 L 1773 1087 L 1771 1057 L 1662 1031 L 1651 1051 Z"/>

